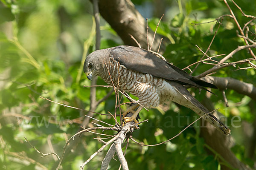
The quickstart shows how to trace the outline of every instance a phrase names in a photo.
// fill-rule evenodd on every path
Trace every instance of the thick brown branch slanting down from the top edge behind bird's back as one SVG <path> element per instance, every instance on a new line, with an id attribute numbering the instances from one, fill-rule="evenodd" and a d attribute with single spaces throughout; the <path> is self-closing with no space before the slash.
<path id="1" fill-rule="evenodd" d="M 131 0 L 100 0 L 99 11 L 101 16 L 111 25 L 121 37 L 125 45 L 137 46 L 130 34 L 147 48 L 145 18 L 137 11 Z M 151 44 L 154 33 L 149 31 L 148 40 Z M 160 37 L 156 35 L 152 45 L 153 51 L 157 51 Z M 161 46 L 163 48 L 163 45 Z"/>

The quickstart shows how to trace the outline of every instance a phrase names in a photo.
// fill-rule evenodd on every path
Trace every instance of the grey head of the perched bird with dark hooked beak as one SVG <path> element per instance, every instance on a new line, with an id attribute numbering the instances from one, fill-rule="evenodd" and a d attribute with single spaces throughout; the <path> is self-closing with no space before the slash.
<path id="1" fill-rule="evenodd" d="M 111 48 L 97 50 L 89 54 L 84 61 L 84 73 L 89 80 L 92 80 L 93 75 L 100 76 L 100 69 L 107 62 Z"/>

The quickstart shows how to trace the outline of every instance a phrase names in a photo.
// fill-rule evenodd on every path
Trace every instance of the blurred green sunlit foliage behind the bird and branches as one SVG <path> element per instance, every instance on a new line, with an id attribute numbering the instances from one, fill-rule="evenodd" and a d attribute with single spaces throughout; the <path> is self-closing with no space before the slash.
<path id="1" fill-rule="evenodd" d="M 154 31 L 159 18 L 165 16 L 157 33 L 164 37 L 163 54 L 167 61 L 185 68 L 200 60 L 218 28 L 216 22 L 196 25 L 230 14 L 222 0 L 131 0 L 135 8 Z M 238 1 L 238 0 L 237 0 Z M 231 2 L 241 26 L 251 18 L 241 15 Z M 238 1 L 245 14 L 256 15 L 256 1 Z M 194 23 L 194 24 L 193 24 Z M 255 21 L 250 24 L 250 35 L 255 37 Z M 54 155 L 41 158 L 24 137 L 43 153 L 55 152 L 61 156 L 67 139 L 78 132 L 85 119 L 84 111 L 63 107 L 40 98 L 65 105 L 90 109 L 90 81 L 83 73 L 85 56 L 95 50 L 96 25 L 89 0 L 0 0 L 0 169 L 44 170 L 55 169 Z M 101 48 L 124 44 L 111 26 L 101 17 Z M 229 54 L 244 40 L 237 37 L 236 23 L 224 17 L 212 42 L 209 55 Z M 145 35 L 146 36 L 146 35 Z M 145 37 L 146 38 L 146 37 Z M 253 39 L 253 38 L 252 38 Z M 254 50 L 255 52 L 255 50 Z M 220 60 L 222 57 L 217 57 Z M 239 51 L 228 62 L 251 58 L 246 50 Z M 253 61 L 256 64 L 255 61 Z M 248 64 L 239 65 L 241 68 Z M 195 68 L 195 67 L 192 67 Z M 212 65 L 200 64 L 192 75 L 198 75 Z M 255 68 L 237 70 L 226 67 L 213 76 L 233 77 L 256 85 Z M 186 70 L 188 71 L 188 70 Z M 188 71 L 189 72 L 189 71 Z M 98 85 L 106 85 L 98 79 Z M 96 99 L 102 99 L 110 88 L 99 87 Z M 199 101 L 206 101 L 205 92 L 192 89 Z M 256 167 L 256 102 L 248 96 L 227 89 L 227 108 L 221 91 L 210 96 L 214 108 L 219 108 L 232 130 L 230 150 L 248 169 Z M 127 101 L 124 99 L 124 102 Z M 115 96 L 102 102 L 96 112 L 114 112 Z M 111 116 L 94 115 L 114 125 Z M 195 118 L 195 113 L 174 103 L 158 109 L 143 110 L 141 120 L 149 119 L 133 133 L 134 139 L 145 144 L 167 140 Z M 179 120 L 179 121 L 177 121 Z M 96 122 L 96 121 L 93 121 Z M 98 122 L 99 123 L 99 122 Z M 87 127 L 92 127 L 91 123 Z M 100 132 L 100 131 L 99 131 Z M 114 134 L 110 132 L 109 134 Z M 102 143 L 92 133 L 84 133 L 70 143 L 64 155 L 62 169 L 77 170 Z M 211 151 L 211 153 L 209 152 Z M 99 170 L 106 150 L 90 161 L 85 170 Z M 200 128 L 188 128 L 174 140 L 156 147 L 145 147 L 130 142 L 126 153 L 130 169 L 145 170 L 219 170 L 221 165 L 237 169 L 215 152 L 200 134 Z M 116 158 L 117 159 L 117 158 Z M 111 161 L 110 169 L 118 169 L 119 161 Z"/>

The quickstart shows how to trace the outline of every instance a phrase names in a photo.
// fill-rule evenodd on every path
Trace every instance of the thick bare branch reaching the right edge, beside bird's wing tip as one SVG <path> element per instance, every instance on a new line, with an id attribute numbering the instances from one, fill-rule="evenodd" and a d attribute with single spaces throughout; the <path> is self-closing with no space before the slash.
<path id="1" fill-rule="evenodd" d="M 206 82 L 210 82 L 218 87 L 218 89 L 224 90 L 226 88 L 232 89 L 239 94 L 249 96 L 253 100 L 256 100 L 256 87 L 253 84 L 241 82 L 237 79 L 230 77 L 212 77 L 207 76 L 201 78 Z"/>

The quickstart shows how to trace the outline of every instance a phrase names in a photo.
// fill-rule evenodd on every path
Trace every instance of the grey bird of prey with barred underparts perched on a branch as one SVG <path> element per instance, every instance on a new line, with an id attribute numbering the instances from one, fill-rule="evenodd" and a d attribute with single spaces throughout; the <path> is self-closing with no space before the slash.
<path id="1" fill-rule="evenodd" d="M 137 114 L 143 106 L 157 107 L 168 100 L 190 108 L 202 116 L 209 111 L 187 91 L 184 85 L 205 90 L 207 89 L 204 87 L 217 88 L 211 83 L 187 74 L 186 71 L 143 48 L 126 45 L 92 52 L 85 59 L 84 72 L 90 80 L 92 75 L 99 76 L 109 85 L 114 84 L 117 87 L 119 84 L 119 89 L 139 98 L 140 105 L 132 105 L 123 113 L 125 122 L 137 122 Z M 133 113 L 133 116 L 125 117 L 129 112 Z M 203 118 L 222 133 L 226 135 L 230 133 L 230 130 L 211 113 Z"/>

